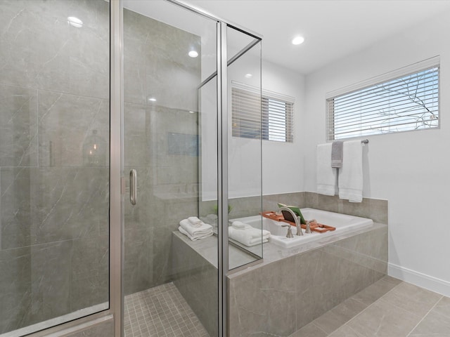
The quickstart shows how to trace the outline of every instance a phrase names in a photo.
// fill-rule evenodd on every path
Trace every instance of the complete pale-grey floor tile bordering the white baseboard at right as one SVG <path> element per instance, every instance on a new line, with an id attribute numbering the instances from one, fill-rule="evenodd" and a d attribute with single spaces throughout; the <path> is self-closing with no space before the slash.
<path id="1" fill-rule="evenodd" d="M 411 296 L 411 294 L 414 296 Z M 441 295 L 414 284 L 401 282 L 392 291 L 383 296 L 383 300 L 391 305 L 407 310 L 423 317 L 441 299 Z"/>

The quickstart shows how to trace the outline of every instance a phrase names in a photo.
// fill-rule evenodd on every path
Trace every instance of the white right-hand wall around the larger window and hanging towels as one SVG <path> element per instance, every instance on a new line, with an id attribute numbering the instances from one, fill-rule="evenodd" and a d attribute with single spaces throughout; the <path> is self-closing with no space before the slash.
<path id="1" fill-rule="evenodd" d="M 390 275 L 450 295 L 449 13 L 379 41 L 306 78 L 304 190 L 316 191 L 316 145 L 326 142 L 329 91 L 435 55 L 441 128 L 367 137 L 364 197 L 389 201 Z"/>

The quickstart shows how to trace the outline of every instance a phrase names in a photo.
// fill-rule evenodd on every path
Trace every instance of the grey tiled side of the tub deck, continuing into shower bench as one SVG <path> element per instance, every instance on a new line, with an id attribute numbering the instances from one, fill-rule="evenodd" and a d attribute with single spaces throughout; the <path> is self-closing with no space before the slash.
<path id="1" fill-rule="evenodd" d="M 217 293 L 202 279 L 217 277 L 216 238 L 172 238 L 173 257 L 183 259 L 173 260 L 174 284 L 207 327 L 216 316 L 205 303 Z M 264 262 L 229 275 L 229 336 L 289 336 L 386 272 L 387 225 L 380 223 L 295 249 L 264 244 Z"/>

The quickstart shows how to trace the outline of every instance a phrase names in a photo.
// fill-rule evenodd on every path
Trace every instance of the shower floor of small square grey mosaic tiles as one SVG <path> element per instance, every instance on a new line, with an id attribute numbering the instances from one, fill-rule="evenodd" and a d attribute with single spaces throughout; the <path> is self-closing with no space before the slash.
<path id="1" fill-rule="evenodd" d="M 174 284 L 125 296 L 125 337 L 209 337 Z"/>

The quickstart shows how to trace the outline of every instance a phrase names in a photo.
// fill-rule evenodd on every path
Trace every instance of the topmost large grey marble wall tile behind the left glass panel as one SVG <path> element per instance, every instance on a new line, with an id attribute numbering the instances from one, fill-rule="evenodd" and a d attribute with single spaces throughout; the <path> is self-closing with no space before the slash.
<path id="1" fill-rule="evenodd" d="M 69 13 L 82 18 L 81 29 L 68 25 Z M 1 21 L 3 83 L 108 98 L 105 1 L 6 1 Z"/>

